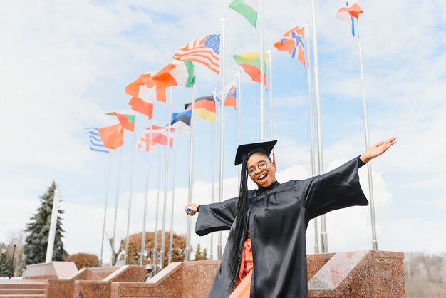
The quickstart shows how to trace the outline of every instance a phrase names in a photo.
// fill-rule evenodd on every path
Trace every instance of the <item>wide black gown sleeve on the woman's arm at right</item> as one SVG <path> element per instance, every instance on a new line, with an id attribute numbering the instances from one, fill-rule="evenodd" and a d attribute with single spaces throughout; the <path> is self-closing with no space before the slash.
<path id="1" fill-rule="evenodd" d="M 327 212 L 350 206 L 366 206 L 368 200 L 359 184 L 359 158 L 330 172 L 304 180 L 304 204 L 308 220 Z"/>

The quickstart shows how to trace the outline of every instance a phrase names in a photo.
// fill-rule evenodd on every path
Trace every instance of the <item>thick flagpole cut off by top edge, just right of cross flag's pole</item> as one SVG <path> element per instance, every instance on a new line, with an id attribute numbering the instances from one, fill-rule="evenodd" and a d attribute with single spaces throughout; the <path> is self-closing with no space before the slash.
<path id="1" fill-rule="evenodd" d="M 313 19 L 313 52 L 314 52 L 314 85 L 316 88 L 316 131 L 318 144 L 318 170 L 323 174 L 321 101 L 319 96 L 318 39 L 316 35 L 316 11 L 314 0 L 311 0 L 311 15 Z M 328 235 L 326 216 L 321 215 L 321 252 L 328 252 Z"/>

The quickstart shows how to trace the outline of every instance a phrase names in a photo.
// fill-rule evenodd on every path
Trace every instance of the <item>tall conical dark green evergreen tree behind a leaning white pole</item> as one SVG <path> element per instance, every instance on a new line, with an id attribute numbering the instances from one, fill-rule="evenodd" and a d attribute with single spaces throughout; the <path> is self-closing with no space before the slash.
<path id="1" fill-rule="evenodd" d="M 41 195 L 41 206 L 38 207 L 36 214 L 31 217 L 31 222 L 26 224 L 25 232 L 28 235 L 24 246 L 25 264 L 45 262 L 55 189 L 56 183 L 53 181 L 46 193 Z M 59 209 L 54 237 L 53 261 L 63 261 L 68 255 L 63 248 L 62 232 L 65 231 L 62 229 L 61 214 L 63 214 L 63 210 Z"/>

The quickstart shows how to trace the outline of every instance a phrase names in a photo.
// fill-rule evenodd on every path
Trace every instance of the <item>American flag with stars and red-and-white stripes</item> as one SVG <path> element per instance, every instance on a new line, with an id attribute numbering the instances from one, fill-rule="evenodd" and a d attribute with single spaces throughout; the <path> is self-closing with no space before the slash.
<path id="1" fill-rule="evenodd" d="M 200 37 L 179 48 L 173 58 L 181 61 L 195 61 L 219 73 L 220 35 L 212 34 Z"/>

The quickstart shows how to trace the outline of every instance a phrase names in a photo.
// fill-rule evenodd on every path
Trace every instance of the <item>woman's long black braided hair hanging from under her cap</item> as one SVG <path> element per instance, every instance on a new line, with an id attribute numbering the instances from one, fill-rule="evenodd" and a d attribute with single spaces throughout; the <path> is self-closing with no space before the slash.
<path id="1" fill-rule="evenodd" d="M 242 170 L 240 171 L 240 193 L 239 202 L 237 203 L 237 215 L 235 217 L 235 230 L 234 230 L 234 244 L 232 251 L 234 252 L 232 256 L 229 257 L 229 271 L 231 272 L 232 280 L 229 284 L 228 294 L 232 293 L 234 290 L 234 284 L 237 280 L 239 274 L 240 260 L 242 258 L 242 247 L 244 242 L 244 237 L 247 232 L 248 227 L 248 159 L 254 153 L 261 153 L 269 158 L 269 154 L 265 150 L 259 148 L 254 152 L 249 153 L 246 158 L 244 158 L 242 163 Z"/>

